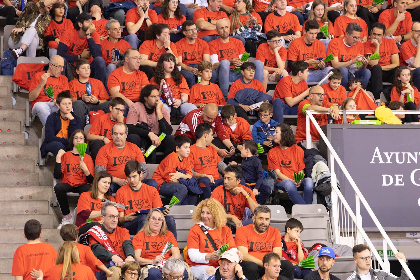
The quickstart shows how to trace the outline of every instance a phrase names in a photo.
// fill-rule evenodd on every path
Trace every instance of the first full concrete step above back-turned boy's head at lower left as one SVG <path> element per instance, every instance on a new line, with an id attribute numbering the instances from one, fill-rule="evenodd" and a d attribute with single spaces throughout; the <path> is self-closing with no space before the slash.
<path id="1" fill-rule="evenodd" d="M 26 200 L 26 201 L 3 201 L 0 204 L 0 213 L 8 215 L 46 215 L 50 208 L 47 200 Z"/>

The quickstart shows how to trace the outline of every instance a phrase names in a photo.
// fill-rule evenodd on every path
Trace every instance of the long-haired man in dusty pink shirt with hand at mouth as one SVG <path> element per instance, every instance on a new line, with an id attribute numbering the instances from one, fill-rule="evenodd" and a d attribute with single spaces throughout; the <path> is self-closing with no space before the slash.
<path id="1" fill-rule="evenodd" d="M 169 111 L 163 107 L 160 100 L 159 88 L 148 84 L 140 92 L 139 102 L 130 107 L 126 124 L 129 128 L 127 140 L 139 147 L 157 148 L 147 157 L 147 163 L 156 162 L 156 152 L 163 152 L 165 158 L 173 152 L 173 139 L 171 117 Z M 160 133 L 165 133 L 165 138 L 160 141 Z"/>

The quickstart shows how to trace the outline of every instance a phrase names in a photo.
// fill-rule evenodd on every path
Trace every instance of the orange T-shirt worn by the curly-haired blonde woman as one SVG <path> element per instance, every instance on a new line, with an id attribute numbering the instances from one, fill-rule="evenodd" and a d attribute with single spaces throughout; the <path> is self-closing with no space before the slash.
<path id="1" fill-rule="evenodd" d="M 220 248 L 220 246 L 222 246 L 223 244 L 229 244 L 228 250 L 236 248 L 232 231 L 227 225 L 224 225 L 221 230 L 207 231 L 210 234 L 211 238 L 213 238 L 213 241 L 218 248 Z M 186 246 L 188 247 L 188 249 L 199 249 L 200 253 L 209 254 L 215 251 L 207 236 L 203 233 L 198 224 L 193 225 L 193 227 L 189 230 Z M 188 254 L 186 256 L 186 263 L 190 267 L 194 265 L 199 265 L 198 263 L 193 262 L 189 258 Z M 210 259 L 207 264 L 202 265 L 211 265 L 213 267 L 218 267 L 219 263 L 217 260 Z"/>

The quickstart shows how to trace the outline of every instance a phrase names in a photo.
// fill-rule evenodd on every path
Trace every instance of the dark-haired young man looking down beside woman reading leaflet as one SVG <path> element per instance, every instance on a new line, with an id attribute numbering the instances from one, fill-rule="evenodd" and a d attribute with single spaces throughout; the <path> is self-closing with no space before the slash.
<path id="1" fill-rule="evenodd" d="M 129 205 L 129 209 L 121 211 L 120 224 L 132 235 L 136 235 L 146 221 L 146 215 L 138 215 L 137 211 L 163 207 L 162 200 L 155 187 L 141 182 L 142 166 L 137 160 L 130 160 L 124 167 L 124 173 L 127 176 L 128 184 L 118 189 L 115 195 L 117 203 Z M 172 216 L 168 216 L 169 208 L 162 210 L 165 215 L 168 230 L 176 238 L 176 225 Z M 146 213 L 147 214 L 147 213 Z"/>

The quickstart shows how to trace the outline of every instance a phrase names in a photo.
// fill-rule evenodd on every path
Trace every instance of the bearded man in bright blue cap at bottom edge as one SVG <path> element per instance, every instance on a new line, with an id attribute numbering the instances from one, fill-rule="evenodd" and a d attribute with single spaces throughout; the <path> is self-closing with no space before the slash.
<path id="1" fill-rule="evenodd" d="M 334 254 L 334 251 L 332 248 L 322 247 L 319 250 L 319 254 L 318 254 L 318 267 L 319 267 L 318 270 L 315 270 L 314 272 L 306 275 L 303 279 L 304 280 L 322 280 L 322 279 L 339 280 L 339 278 L 330 274 L 331 267 L 336 262 L 335 258 L 336 258 L 336 254 Z"/>

